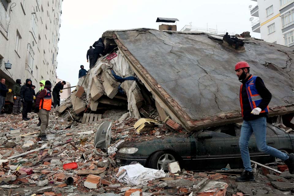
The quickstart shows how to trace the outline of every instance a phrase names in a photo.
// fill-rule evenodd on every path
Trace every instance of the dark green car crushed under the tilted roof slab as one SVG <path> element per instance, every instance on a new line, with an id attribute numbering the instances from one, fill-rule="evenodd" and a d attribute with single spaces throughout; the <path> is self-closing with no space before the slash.
<path id="1" fill-rule="evenodd" d="M 149 141 L 126 141 L 118 146 L 116 163 L 127 165 L 137 161 L 145 167 L 168 170 L 168 163 L 179 161 L 186 170 L 208 171 L 222 169 L 230 164 L 232 169 L 243 168 L 239 150 L 241 127 L 230 124 L 198 131 L 190 136 L 176 135 Z M 267 145 L 285 153 L 294 151 L 294 134 L 267 124 Z M 277 161 L 258 151 L 254 134 L 249 141 L 251 160 L 261 164 Z"/>

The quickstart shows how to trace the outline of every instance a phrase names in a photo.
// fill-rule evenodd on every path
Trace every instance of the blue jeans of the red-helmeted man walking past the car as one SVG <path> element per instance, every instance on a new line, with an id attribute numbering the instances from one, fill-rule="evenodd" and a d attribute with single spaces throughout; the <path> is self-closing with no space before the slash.
<path id="1" fill-rule="evenodd" d="M 260 152 L 277 157 L 283 161 L 289 158 L 286 153 L 266 145 L 266 117 L 250 121 L 243 120 L 239 148 L 246 171 L 252 171 L 248 150 L 248 141 L 252 133 L 255 135 L 256 145 Z"/>

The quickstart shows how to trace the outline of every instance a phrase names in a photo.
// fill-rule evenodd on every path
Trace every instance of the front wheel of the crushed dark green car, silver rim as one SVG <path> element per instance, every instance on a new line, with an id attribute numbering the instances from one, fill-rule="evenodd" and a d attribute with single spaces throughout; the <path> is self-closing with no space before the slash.
<path id="1" fill-rule="evenodd" d="M 148 166 L 153 169 L 168 171 L 168 164 L 177 161 L 175 157 L 175 155 L 161 150 L 151 155 Z"/>

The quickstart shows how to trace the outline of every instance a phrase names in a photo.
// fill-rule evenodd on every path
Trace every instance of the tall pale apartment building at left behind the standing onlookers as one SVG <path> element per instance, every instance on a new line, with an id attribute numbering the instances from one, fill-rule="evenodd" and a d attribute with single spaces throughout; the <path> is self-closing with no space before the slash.
<path id="1" fill-rule="evenodd" d="M 55 85 L 62 1 L 0 0 L 0 77 L 6 86 L 27 78 L 37 88 L 41 80 Z"/>

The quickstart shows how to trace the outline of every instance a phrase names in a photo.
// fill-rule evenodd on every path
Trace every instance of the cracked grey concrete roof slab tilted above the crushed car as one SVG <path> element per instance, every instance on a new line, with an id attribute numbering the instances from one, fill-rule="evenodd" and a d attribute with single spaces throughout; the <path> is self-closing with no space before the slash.
<path id="1" fill-rule="evenodd" d="M 269 107 L 293 104 L 293 51 L 247 39 L 245 52 L 203 34 L 118 31 L 118 39 L 191 119 L 240 111 L 236 62 L 247 61 L 273 97 Z M 270 62 L 281 71 L 266 68 Z"/>

